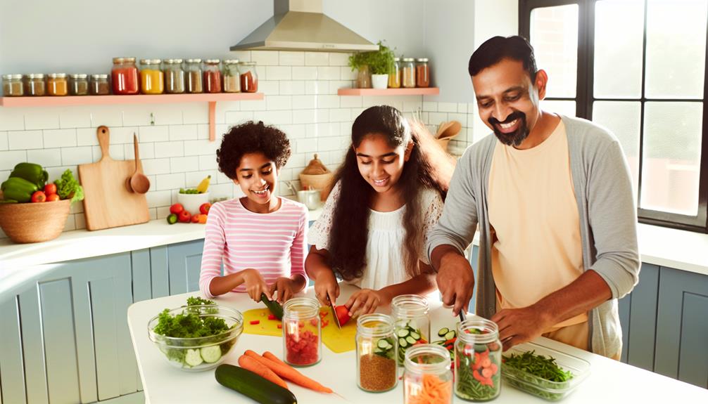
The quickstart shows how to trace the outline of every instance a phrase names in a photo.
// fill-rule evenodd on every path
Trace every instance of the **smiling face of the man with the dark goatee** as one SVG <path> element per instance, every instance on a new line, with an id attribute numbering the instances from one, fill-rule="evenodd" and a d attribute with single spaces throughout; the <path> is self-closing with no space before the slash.
<path id="1" fill-rule="evenodd" d="M 522 61 L 502 59 L 472 76 L 479 117 L 506 145 L 519 146 L 535 127 L 546 93 L 546 72 L 531 82 Z"/>

